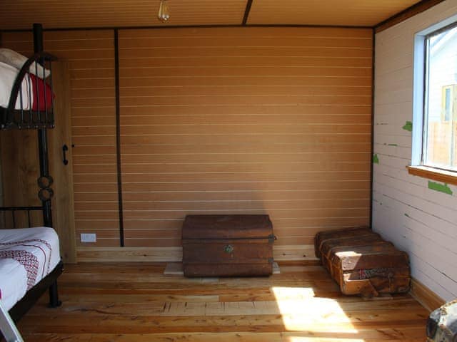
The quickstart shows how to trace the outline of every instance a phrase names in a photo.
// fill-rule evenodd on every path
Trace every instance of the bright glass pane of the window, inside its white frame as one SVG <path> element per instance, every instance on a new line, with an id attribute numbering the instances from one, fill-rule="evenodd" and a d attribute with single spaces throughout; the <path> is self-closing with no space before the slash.
<path id="1" fill-rule="evenodd" d="M 427 43 L 423 164 L 457 170 L 457 27 Z"/>

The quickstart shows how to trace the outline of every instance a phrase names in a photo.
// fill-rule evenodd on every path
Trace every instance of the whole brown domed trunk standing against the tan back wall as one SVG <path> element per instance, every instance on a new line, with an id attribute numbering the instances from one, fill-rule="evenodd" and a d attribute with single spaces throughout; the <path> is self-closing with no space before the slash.
<path id="1" fill-rule="evenodd" d="M 273 272 L 268 215 L 188 215 L 182 230 L 185 276 L 268 276 Z"/>

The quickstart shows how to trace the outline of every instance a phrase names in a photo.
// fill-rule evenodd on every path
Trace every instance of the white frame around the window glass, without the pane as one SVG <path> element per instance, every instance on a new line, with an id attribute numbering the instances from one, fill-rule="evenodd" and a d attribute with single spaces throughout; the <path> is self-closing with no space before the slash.
<path id="1" fill-rule="evenodd" d="M 457 26 L 457 15 L 440 21 L 437 24 L 429 26 L 423 31 L 416 33 L 414 36 L 413 51 L 413 141 L 411 151 L 411 166 L 423 167 L 423 140 L 426 137 L 426 118 L 427 98 L 426 83 L 428 82 L 428 70 L 426 64 L 426 42 L 429 36 L 433 36 L 438 31 L 447 30 Z M 431 167 L 433 170 L 440 172 L 443 169 Z M 444 172 L 452 172 L 443 170 Z"/>

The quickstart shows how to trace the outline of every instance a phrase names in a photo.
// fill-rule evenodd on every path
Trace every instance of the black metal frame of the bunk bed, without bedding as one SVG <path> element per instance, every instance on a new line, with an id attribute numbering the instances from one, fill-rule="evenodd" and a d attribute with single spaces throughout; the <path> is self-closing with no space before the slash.
<path id="1" fill-rule="evenodd" d="M 47 140 L 47 129 L 54 128 L 54 105 L 51 108 L 46 106 L 46 87 L 44 87 L 44 110 L 42 108 L 36 108 L 32 110 L 32 97 L 31 88 L 29 88 L 29 108 L 24 109 L 23 105 L 23 94 L 21 90 L 22 81 L 24 77 L 30 77 L 28 72 L 32 63 L 35 62 L 35 71 L 38 75 L 38 65 L 41 65 L 42 72 L 44 75 L 44 66 L 46 63 L 49 65 L 51 71 L 51 61 L 55 61 L 56 58 L 51 56 L 49 53 L 43 51 L 43 28 L 41 24 L 34 24 L 34 56 L 31 56 L 24 66 L 19 71 L 14 85 L 11 91 L 8 108 L 0 108 L 0 128 L 1 130 L 21 130 L 21 129 L 36 129 L 38 130 L 38 149 L 39 149 L 39 178 L 38 186 L 39 193 L 38 197 L 41 200 L 41 207 L 1 207 L 0 212 L 11 212 L 13 219 L 13 226 L 16 228 L 15 213 L 18 211 L 25 211 L 27 213 L 28 225 L 30 227 L 30 212 L 31 211 L 42 211 L 43 212 L 43 224 L 46 227 L 52 227 L 52 213 L 51 213 L 51 198 L 54 195 L 54 191 L 51 189 L 53 183 L 52 177 L 49 175 L 49 160 L 48 160 L 48 140 Z M 51 76 L 50 76 L 51 77 Z M 30 83 L 29 83 L 30 84 Z M 51 85 L 50 85 L 51 86 Z M 52 88 L 51 88 L 52 89 Z M 36 86 L 34 89 L 36 98 L 39 98 L 39 88 Z M 16 109 L 16 101 L 20 99 L 21 108 Z M 39 297 L 44 294 L 46 289 L 49 289 L 49 306 L 56 307 L 61 305 L 59 301 L 59 295 L 57 291 L 56 279 L 64 270 L 63 263 L 60 263 L 48 274 L 44 279 L 36 284 L 33 288 L 27 291 L 23 299 L 16 303 L 11 308 L 9 314 L 14 321 L 19 321 L 19 318 L 26 314 L 26 312 L 33 306 Z"/>

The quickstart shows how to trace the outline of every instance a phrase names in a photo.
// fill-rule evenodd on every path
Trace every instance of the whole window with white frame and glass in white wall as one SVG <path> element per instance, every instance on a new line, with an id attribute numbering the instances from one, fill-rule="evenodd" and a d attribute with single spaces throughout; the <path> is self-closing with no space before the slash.
<path id="1" fill-rule="evenodd" d="M 411 164 L 457 182 L 457 23 L 441 25 L 416 35 Z"/>

